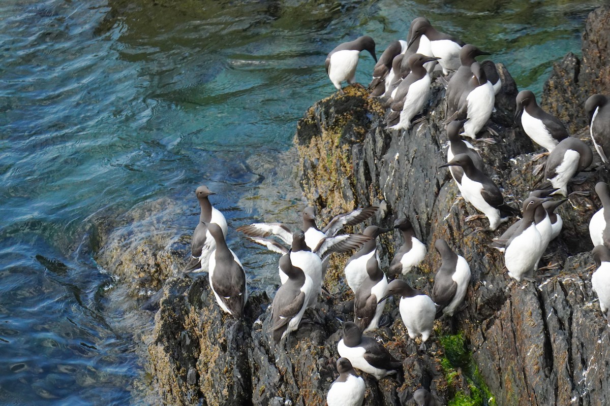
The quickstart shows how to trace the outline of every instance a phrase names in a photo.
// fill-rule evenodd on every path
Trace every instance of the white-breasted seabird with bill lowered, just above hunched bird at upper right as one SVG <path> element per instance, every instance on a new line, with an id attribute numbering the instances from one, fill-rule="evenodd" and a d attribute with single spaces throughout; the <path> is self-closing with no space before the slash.
<path id="1" fill-rule="evenodd" d="M 534 93 L 522 90 L 517 94 L 516 100 L 515 123 L 520 119 L 523 131 L 536 144 L 548 152 L 553 152 L 559 141 L 570 136 L 557 117 L 540 108 Z"/>

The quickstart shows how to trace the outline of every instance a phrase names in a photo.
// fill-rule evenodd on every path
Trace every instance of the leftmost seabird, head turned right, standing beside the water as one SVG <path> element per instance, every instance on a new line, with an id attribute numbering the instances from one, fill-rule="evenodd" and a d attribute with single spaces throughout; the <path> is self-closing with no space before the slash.
<path id="1" fill-rule="evenodd" d="M 216 248 L 216 243 L 213 237 L 207 231 L 208 223 L 215 223 L 220 226 L 223 231 L 223 236 L 227 236 L 227 221 L 224 215 L 215 207 L 212 206 L 208 197 L 215 195 L 210 192 L 207 186 L 199 186 L 195 195 L 199 200 L 201 214 L 199 214 L 199 224 L 193 232 L 191 240 L 191 257 L 190 262 L 186 265 L 185 270 L 190 272 L 207 272 L 210 254 Z"/>

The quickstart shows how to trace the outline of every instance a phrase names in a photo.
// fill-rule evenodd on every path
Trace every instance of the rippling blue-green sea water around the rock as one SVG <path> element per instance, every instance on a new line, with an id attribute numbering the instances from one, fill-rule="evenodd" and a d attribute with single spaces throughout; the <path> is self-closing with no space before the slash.
<path id="1" fill-rule="evenodd" d="M 381 55 L 426 15 L 540 93 L 602 1 L 34 1 L 0 3 L 0 404 L 143 403 L 150 320 L 93 259 L 96 222 L 168 198 L 189 235 L 207 184 L 236 227 L 295 222 L 296 121 L 334 88 L 325 55 L 371 35 Z M 357 80 L 374 63 L 363 54 Z M 277 154 L 282 154 L 278 161 Z M 273 256 L 232 234 L 253 289 Z M 121 301 L 123 303 L 121 303 Z"/>

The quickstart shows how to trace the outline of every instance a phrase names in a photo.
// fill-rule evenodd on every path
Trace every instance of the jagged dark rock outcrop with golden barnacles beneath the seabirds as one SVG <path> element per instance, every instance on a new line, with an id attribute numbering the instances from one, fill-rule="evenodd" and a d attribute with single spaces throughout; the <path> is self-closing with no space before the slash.
<path id="1" fill-rule="evenodd" d="M 592 13 L 587 43 L 596 41 L 591 27 L 608 16 L 607 9 Z M 596 69 L 593 59 L 587 63 Z M 491 125 L 499 136 L 496 144 L 478 147 L 487 173 L 504 189 L 506 200 L 520 206 L 534 189 L 535 163 L 530 161 L 534 147 L 514 127 L 517 87 L 504 66 L 498 69 L 503 89 Z M 560 89 L 561 94 L 586 92 L 580 80 L 562 86 L 556 79 L 549 83 L 553 95 Z M 588 253 L 592 245 L 587 226 L 599 206 L 597 196 L 573 196 L 559 209 L 564 231 L 551 242 L 544 258 L 556 265 L 544 275 L 539 272 L 536 283 L 512 281 L 503 269 L 503 256 L 487 247 L 508 224 L 495 233 L 476 231 L 486 227 L 487 220 L 465 222 L 476 210 L 456 200 L 458 189 L 448 171 L 437 169 L 445 163 L 447 142 L 443 94 L 442 87 L 435 85 L 425 118 L 400 133 L 384 130 L 384 108 L 358 88 L 320 100 L 298 123 L 295 144 L 303 191 L 321 217 L 375 204 L 380 210 L 373 223 L 389 226 L 406 214 L 429 253 L 405 279 L 427 293 L 440 265 L 432 248 L 436 239 L 447 240 L 472 270 L 465 308 L 451 320 L 437 323 L 429 351 L 418 351 L 390 301 L 386 313 L 393 314 L 393 323 L 374 336 L 404 360 L 404 374 L 379 382 L 362 374 L 367 382 L 365 405 L 414 405 L 412 393 L 421 386 L 429 388 L 439 404 L 608 404 L 610 337 L 591 292 L 593 261 Z M 557 105 L 572 114 L 564 104 Z M 582 124 L 579 128 L 576 136 L 587 139 L 586 129 Z M 592 191 L 598 180 L 607 181 L 608 174 L 596 156 L 592 169 L 574 189 Z M 152 206 L 162 211 L 166 203 Z M 152 209 L 140 212 L 154 217 Z M 137 213 L 132 215 L 137 218 Z M 341 338 L 337 318 L 353 317 L 350 293 L 341 278 L 342 259 L 337 258 L 327 274 L 326 286 L 333 296 L 320 300 L 322 323 L 303 324 L 296 334 L 274 345 L 267 333 L 270 299 L 264 293 L 249 298 L 243 320 L 233 320 L 215 304 L 207 278 L 171 276 L 183 264 L 187 242 L 171 233 L 154 236 L 142 241 L 117 228 L 102 238 L 98 261 L 134 295 L 163 289 L 154 331 L 142 340 L 148 348 L 146 368 L 165 404 L 325 404 L 336 377 L 336 344 Z M 384 265 L 400 243 L 398 235 L 382 238 Z"/>

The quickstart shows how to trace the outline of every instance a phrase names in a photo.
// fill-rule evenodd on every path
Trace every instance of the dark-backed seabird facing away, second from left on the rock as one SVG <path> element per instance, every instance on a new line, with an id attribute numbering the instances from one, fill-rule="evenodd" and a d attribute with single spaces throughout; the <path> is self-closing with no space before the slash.
<path id="1" fill-rule="evenodd" d="M 207 231 L 216 242 L 216 249 L 210 254 L 210 287 L 218 306 L 234 318 L 241 318 L 248 301 L 242 262 L 228 247 L 218 224 L 209 223 Z"/>

